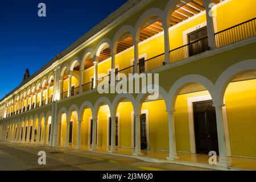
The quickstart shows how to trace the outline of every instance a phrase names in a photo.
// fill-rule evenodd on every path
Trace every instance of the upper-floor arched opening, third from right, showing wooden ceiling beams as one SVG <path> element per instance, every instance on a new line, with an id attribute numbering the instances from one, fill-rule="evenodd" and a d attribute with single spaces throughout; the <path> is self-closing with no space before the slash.
<path id="1" fill-rule="evenodd" d="M 136 26 L 137 30 L 135 30 L 135 41 L 138 45 L 138 55 L 136 55 L 138 56 L 138 63 L 136 63 L 138 73 L 151 71 L 164 64 L 164 36 L 161 34 L 164 30 L 162 12 L 149 13 L 150 10 L 147 12 L 148 14 L 142 15 Z M 152 36 L 157 38 L 150 39 Z M 137 54 L 136 50 L 135 54 Z"/>

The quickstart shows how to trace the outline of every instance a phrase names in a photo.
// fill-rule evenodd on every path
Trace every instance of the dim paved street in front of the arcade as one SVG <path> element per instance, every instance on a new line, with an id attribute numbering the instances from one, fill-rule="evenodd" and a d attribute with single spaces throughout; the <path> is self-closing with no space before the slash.
<path id="1" fill-rule="evenodd" d="M 46 165 L 39 165 L 39 151 L 46 152 Z M 138 170 L 205 170 L 177 164 L 146 163 L 138 159 L 126 158 L 96 152 L 77 151 L 64 148 L 42 146 L 21 146 L 0 142 L 0 170 L 12 171 L 138 171 Z"/>

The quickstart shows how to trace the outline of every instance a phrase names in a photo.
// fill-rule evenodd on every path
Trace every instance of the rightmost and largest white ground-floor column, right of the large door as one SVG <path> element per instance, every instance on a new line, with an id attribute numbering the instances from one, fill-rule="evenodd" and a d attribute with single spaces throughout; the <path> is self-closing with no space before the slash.
<path id="1" fill-rule="evenodd" d="M 218 133 L 218 150 L 220 154 L 219 162 L 217 163 L 218 166 L 221 167 L 229 167 L 232 164 L 228 160 L 228 152 L 226 150 L 226 135 L 224 130 L 224 119 L 223 119 L 223 107 L 225 105 L 216 105 L 216 121 L 217 121 L 217 133 Z"/>

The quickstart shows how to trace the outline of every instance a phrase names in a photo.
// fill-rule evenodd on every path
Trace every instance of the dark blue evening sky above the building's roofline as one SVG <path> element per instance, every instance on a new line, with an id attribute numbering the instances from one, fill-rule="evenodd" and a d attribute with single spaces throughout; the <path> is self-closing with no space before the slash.
<path id="1" fill-rule="evenodd" d="M 75 42 L 127 0 L 1 0 L 0 99 L 57 53 Z M 46 3 L 47 17 L 39 18 L 38 4 Z"/>

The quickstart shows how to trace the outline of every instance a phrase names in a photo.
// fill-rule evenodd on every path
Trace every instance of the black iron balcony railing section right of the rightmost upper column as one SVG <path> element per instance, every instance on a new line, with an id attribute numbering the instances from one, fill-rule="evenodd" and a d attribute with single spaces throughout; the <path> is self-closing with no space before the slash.
<path id="1" fill-rule="evenodd" d="M 222 47 L 256 35 L 256 18 L 227 28 L 215 35 L 216 46 Z"/>

